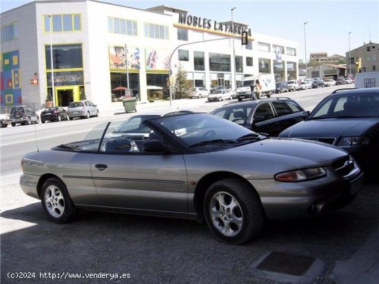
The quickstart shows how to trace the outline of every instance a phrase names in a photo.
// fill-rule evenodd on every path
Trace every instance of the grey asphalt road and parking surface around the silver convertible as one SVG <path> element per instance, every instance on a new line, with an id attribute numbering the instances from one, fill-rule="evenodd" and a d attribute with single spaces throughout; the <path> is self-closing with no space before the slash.
<path id="1" fill-rule="evenodd" d="M 310 110 L 330 90 L 286 96 Z M 154 103 L 139 112 L 167 107 Z M 209 111 L 224 103 L 183 100 L 172 108 Z M 116 107 L 90 120 L 1 129 L 1 283 L 377 283 L 378 181 L 332 215 L 269 222 L 258 239 L 240 246 L 217 241 L 196 221 L 90 211 L 68 224 L 48 221 L 40 201 L 18 184 L 21 155 L 37 148 L 36 133 L 46 149 L 132 115 Z M 314 257 L 320 265 L 311 278 L 258 271 L 270 252 Z"/>

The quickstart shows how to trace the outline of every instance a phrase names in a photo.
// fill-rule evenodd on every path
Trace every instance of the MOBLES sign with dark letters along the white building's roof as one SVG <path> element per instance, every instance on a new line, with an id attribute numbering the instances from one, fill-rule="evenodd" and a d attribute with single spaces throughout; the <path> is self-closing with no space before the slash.
<path id="1" fill-rule="evenodd" d="M 243 32 L 247 32 L 248 36 L 252 36 L 252 30 L 246 28 L 245 25 L 240 25 L 238 23 L 233 23 L 232 25 L 232 23 L 212 21 L 212 19 L 196 17 L 191 14 L 179 14 L 178 23 L 181 25 L 188 25 L 189 27 L 214 30 L 217 32 L 228 32 L 230 34 L 242 35 Z"/>

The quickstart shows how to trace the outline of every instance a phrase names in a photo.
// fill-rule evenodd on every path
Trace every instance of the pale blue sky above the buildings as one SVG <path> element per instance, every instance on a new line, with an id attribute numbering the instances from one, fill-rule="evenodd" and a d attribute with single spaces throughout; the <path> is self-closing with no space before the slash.
<path id="1" fill-rule="evenodd" d="M 379 43 L 379 0 L 100 1 L 140 9 L 165 5 L 219 22 L 231 21 L 232 8 L 236 7 L 234 21 L 248 24 L 252 32 L 296 41 L 298 58 L 302 61 L 305 60 L 305 44 L 308 61 L 311 52 L 345 56 L 349 48 L 354 50 L 370 40 Z M 0 11 L 30 2 L 0 0 Z"/>

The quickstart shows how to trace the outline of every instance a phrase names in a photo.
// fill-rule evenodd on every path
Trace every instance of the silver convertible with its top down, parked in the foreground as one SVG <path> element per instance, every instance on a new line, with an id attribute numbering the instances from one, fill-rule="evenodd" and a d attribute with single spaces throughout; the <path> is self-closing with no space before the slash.
<path id="1" fill-rule="evenodd" d="M 140 117 L 24 155 L 23 192 L 58 223 L 79 208 L 205 220 L 241 244 L 267 219 L 322 215 L 362 188 L 360 168 L 335 146 L 268 138 L 208 113 Z"/>

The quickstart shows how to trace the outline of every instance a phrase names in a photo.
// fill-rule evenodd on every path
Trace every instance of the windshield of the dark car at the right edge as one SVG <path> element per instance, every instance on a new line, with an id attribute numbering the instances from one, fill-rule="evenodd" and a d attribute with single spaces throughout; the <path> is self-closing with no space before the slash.
<path id="1" fill-rule="evenodd" d="M 322 100 L 308 119 L 378 118 L 379 94 L 349 94 L 330 96 Z"/>

